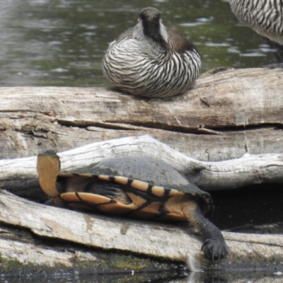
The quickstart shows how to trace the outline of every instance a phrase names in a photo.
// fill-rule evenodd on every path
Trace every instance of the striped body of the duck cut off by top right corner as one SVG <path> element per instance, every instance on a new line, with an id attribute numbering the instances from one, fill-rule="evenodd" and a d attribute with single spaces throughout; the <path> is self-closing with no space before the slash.
<path id="1" fill-rule="evenodd" d="M 229 1 L 239 21 L 283 45 L 283 0 Z"/>

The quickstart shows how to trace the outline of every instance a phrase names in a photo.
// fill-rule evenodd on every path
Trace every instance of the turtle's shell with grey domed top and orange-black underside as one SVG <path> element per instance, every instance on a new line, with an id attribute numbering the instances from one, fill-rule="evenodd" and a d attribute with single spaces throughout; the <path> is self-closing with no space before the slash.
<path id="1" fill-rule="evenodd" d="M 37 160 L 37 171 L 38 166 Z M 45 192 L 55 198 L 57 205 L 142 219 L 186 220 L 174 207 L 187 199 L 197 201 L 202 213 L 213 208 L 209 193 L 167 163 L 140 156 L 108 158 L 73 173 L 59 173 L 52 189 L 48 188 L 50 184 L 40 185 L 42 190 L 47 187 Z"/>

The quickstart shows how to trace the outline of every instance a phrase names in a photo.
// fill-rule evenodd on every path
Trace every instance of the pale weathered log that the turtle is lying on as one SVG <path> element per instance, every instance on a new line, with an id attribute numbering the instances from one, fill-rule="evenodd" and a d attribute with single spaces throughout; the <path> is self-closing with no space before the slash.
<path id="1" fill-rule="evenodd" d="M 0 191 L 0 221 L 32 231 L 36 236 L 60 239 L 69 243 L 79 243 L 105 250 L 123 250 L 132 253 L 151 255 L 158 258 L 188 262 L 191 269 L 207 268 L 210 262 L 204 260 L 200 248 L 199 236 L 188 233 L 187 226 L 171 226 L 127 219 L 110 219 L 106 216 L 83 214 L 57 207 L 48 207 L 23 200 L 5 191 Z M 283 236 L 258 235 L 224 232 L 229 247 L 229 256 L 215 267 L 225 269 L 283 267 Z M 1 257 L 13 255 L 25 258 L 23 262 L 54 265 L 54 258 L 60 264 L 71 265 L 69 253 L 54 253 L 46 258 L 47 253 L 33 258 L 33 249 L 23 253 L 16 244 L 8 246 L 1 240 Z M 17 243 L 18 246 L 21 246 Z M 21 254 L 23 253 L 23 254 Z M 38 256 L 38 258 L 37 258 Z M 82 255 L 83 260 L 93 260 L 91 255 Z M 281 260 L 281 262 L 280 262 Z"/>

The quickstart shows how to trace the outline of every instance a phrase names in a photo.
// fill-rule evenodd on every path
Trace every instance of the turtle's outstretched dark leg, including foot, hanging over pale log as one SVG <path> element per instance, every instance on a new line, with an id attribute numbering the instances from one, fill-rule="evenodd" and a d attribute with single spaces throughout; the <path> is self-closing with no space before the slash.
<path id="1" fill-rule="evenodd" d="M 224 237 L 212 222 L 204 218 L 199 204 L 195 200 L 191 200 L 183 206 L 182 210 L 190 223 L 203 236 L 202 251 L 206 258 L 212 261 L 224 258 L 228 253 Z"/>

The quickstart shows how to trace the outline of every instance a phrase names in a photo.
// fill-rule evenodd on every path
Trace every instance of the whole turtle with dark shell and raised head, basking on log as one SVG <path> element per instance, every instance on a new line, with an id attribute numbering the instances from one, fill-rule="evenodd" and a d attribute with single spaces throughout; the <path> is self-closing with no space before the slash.
<path id="1" fill-rule="evenodd" d="M 204 238 L 206 258 L 214 261 L 226 256 L 221 231 L 203 216 L 214 208 L 212 197 L 167 163 L 120 156 L 91 163 L 74 173 L 60 170 L 54 150 L 37 155 L 40 187 L 53 198 L 54 205 L 136 219 L 189 221 Z"/>

